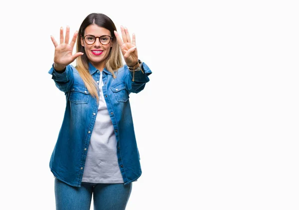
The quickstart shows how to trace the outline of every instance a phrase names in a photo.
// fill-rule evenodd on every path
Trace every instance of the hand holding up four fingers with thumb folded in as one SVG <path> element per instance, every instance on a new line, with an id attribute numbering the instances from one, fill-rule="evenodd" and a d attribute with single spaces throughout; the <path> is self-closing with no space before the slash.
<path id="1" fill-rule="evenodd" d="M 136 48 L 135 34 L 133 33 L 132 42 L 131 42 L 128 29 L 121 26 L 121 31 L 122 31 L 123 40 L 117 31 L 114 31 L 114 35 L 121 47 L 121 51 L 123 53 L 126 64 L 128 66 L 135 66 L 136 64 L 138 64 L 138 53 Z"/>

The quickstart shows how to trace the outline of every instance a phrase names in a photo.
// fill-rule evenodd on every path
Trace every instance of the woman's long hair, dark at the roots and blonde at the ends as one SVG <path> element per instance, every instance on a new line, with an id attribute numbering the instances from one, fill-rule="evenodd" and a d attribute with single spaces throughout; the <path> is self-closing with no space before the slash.
<path id="1" fill-rule="evenodd" d="M 102 13 L 91 13 L 82 22 L 77 36 L 77 52 L 83 52 L 84 55 L 79 56 L 76 59 L 76 69 L 80 74 L 87 90 L 92 97 L 97 99 L 99 102 L 98 89 L 99 85 L 92 78 L 88 70 L 88 58 L 85 53 L 85 48 L 81 45 L 81 37 L 84 36 L 85 28 L 91 24 L 96 24 L 100 27 L 106 28 L 110 31 L 111 36 L 114 35 L 114 30 L 116 30 L 113 21 L 105 14 Z M 112 73 L 113 78 L 116 78 L 114 71 L 118 70 L 123 66 L 122 54 L 118 42 L 115 37 L 111 40 L 113 45 L 110 49 L 108 58 L 106 59 L 106 69 Z"/>

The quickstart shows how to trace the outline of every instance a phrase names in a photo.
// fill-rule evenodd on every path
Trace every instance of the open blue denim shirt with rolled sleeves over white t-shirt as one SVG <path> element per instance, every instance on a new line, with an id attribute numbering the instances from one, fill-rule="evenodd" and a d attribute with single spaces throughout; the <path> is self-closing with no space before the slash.
<path id="1" fill-rule="evenodd" d="M 135 72 L 134 82 L 133 72 L 129 71 L 127 65 L 118 70 L 116 79 L 106 68 L 102 72 L 103 94 L 114 126 L 118 163 L 125 185 L 142 174 L 129 102 L 129 94 L 139 93 L 149 82 L 151 71 L 145 63 L 142 64 L 143 71 Z M 81 187 L 98 104 L 72 65 L 68 65 L 63 73 L 56 72 L 52 66 L 48 73 L 66 97 L 64 118 L 51 155 L 50 170 L 57 179 Z M 95 81 L 99 81 L 100 72 L 90 63 L 89 73 Z"/>

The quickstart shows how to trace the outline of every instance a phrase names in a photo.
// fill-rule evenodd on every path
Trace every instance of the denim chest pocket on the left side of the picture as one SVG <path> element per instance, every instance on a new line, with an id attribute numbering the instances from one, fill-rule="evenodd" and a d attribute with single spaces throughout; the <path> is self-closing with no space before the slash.
<path id="1" fill-rule="evenodd" d="M 87 104 L 89 102 L 90 94 L 85 86 L 74 85 L 69 101 L 74 104 Z"/>

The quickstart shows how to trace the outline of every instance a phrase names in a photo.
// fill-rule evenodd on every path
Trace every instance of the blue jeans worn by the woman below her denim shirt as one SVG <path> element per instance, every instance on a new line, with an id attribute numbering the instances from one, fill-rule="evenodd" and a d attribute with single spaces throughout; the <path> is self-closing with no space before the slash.
<path id="1" fill-rule="evenodd" d="M 90 210 L 92 195 L 94 210 L 125 210 L 132 182 L 128 185 L 82 182 L 77 188 L 55 178 L 54 189 L 56 210 Z"/>

